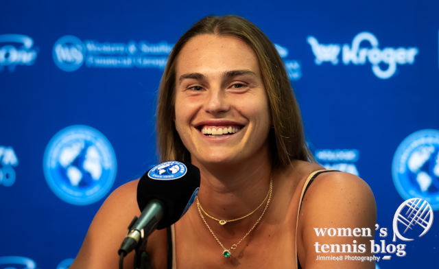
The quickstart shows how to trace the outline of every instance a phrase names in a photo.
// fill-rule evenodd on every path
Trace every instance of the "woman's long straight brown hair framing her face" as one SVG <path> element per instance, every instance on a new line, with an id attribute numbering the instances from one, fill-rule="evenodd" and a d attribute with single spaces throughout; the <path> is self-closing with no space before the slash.
<path id="1" fill-rule="evenodd" d="M 294 159 L 314 161 L 305 141 L 300 111 L 281 57 L 271 41 L 256 25 L 234 15 L 207 16 L 195 23 L 174 45 L 163 73 L 158 95 L 156 128 L 161 161 L 191 161 L 190 153 L 178 136 L 173 120 L 175 66 L 182 47 L 190 38 L 199 34 L 235 36 L 250 45 L 257 55 L 270 103 L 272 129 L 268 139 L 273 165 L 289 165 Z"/>

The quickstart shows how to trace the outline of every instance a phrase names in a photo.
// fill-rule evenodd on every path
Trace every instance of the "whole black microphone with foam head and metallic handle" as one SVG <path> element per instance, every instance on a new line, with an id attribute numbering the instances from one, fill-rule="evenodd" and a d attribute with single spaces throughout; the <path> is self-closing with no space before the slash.
<path id="1" fill-rule="evenodd" d="M 184 215 L 200 187 L 200 170 L 193 165 L 167 161 L 142 176 L 137 185 L 137 204 L 142 211 L 134 218 L 123 239 L 119 255 L 127 255 L 155 229 L 163 229 Z"/>

